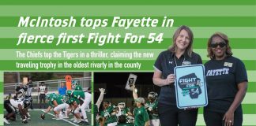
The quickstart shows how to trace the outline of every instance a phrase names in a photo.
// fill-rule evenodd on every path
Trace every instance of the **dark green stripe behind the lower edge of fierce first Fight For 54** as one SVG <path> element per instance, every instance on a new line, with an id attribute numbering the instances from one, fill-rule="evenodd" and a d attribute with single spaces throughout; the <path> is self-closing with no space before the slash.
<path id="1" fill-rule="evenodd" d="M 18 36 L 17 36 L 18 37 Z M 122 42 L 123 39 L 120 39 Z M 165 38 L 162 43 L 146 43 L 147 39 L 142 39 L 141 43 L 113 43 L 105 44 L 104 46 L 98 46 L 95 43 L 86 43 L 87 39 L 83 39 L 84 43 L 69 43 L 69 44 L 59 44 L 55 46 L 55 42 L 52 44 L 20 44 L 17 46 L 18 39 L 12 38 L 0 38 L 0 49 L 167 49 L 171 45 L 172 39 Z M 56 40 L 57 41 L 57 40 Z M 205 49 L 208 39 L 194 39 L 193 47 L 194 49 Z M 230 45 L 232 49 L 255 49 L 256 39 L 230 39 Z"/>

